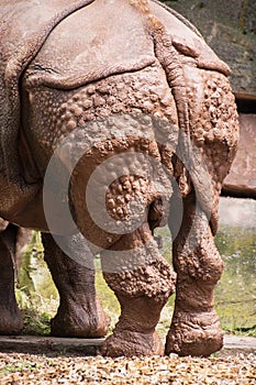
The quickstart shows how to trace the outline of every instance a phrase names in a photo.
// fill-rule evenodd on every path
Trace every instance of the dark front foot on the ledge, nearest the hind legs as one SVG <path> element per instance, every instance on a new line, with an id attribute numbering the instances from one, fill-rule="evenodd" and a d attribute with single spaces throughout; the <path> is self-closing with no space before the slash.
<path id="1" fill-rule="evenodd" d="M 108 333 L 110 317 L 103 311 L 99 299 L 93 306 L 59 306 L 56 316 L 51 320 L 51 334 L 56 337 L 100 338 Z"/>

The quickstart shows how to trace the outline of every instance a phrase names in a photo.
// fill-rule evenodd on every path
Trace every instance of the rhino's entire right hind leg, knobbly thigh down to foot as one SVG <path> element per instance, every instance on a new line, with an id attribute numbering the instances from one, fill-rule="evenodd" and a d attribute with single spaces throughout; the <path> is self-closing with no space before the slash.
<path id="1" fill-rule="evenodd" d="M 185 74 L 190 96 L 191 136 L 202 148 L 202 160 L 211 175 L 212 201 L 210 213 L 203 211 L 198 205 L 201 191 L 196 193 L 193 186 L 182 183 L 183 220 L 172 250 L 177 296 L 165 351 L 167 354 L 210 355 L 223 343 L 220 321 L 213 309 L 213 290 L 221 277 L 223 263 L 213 237 L 218 229 L 222 183 L 237 144 L 237 116 L 230 85 L 222 75 L 211 73 L 209 76 L 189 66 L 185 67 Z M 219 92 L 218 98 L 215 91 Z M 193 177 L 192 174 L 190 176 Z M 171 206 L 177 206 L 177 199 L 172 196 Z M 169 227 L 174 231 L 171 217 Z"/>

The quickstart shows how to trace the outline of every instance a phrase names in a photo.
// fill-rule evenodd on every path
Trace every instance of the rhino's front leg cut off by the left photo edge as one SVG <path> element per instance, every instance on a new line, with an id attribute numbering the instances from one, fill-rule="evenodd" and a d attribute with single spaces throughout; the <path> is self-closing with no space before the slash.
<path id="1" fill-rule="evenodd" d="M 16 334 L 23 328 L 14 294 L 16 233 L 13 224 L 0 233 L 0 334 Z"/>

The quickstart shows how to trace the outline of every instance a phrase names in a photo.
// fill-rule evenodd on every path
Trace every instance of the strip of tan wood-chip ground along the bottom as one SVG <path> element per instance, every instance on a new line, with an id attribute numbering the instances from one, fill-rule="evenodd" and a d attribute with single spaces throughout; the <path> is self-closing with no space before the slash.
<path id="1" fill-rule="evenodd" d="M 219 358 L 45 356 L 0 353 L 0 384 L 256 384 L 256 353 Z"/>

